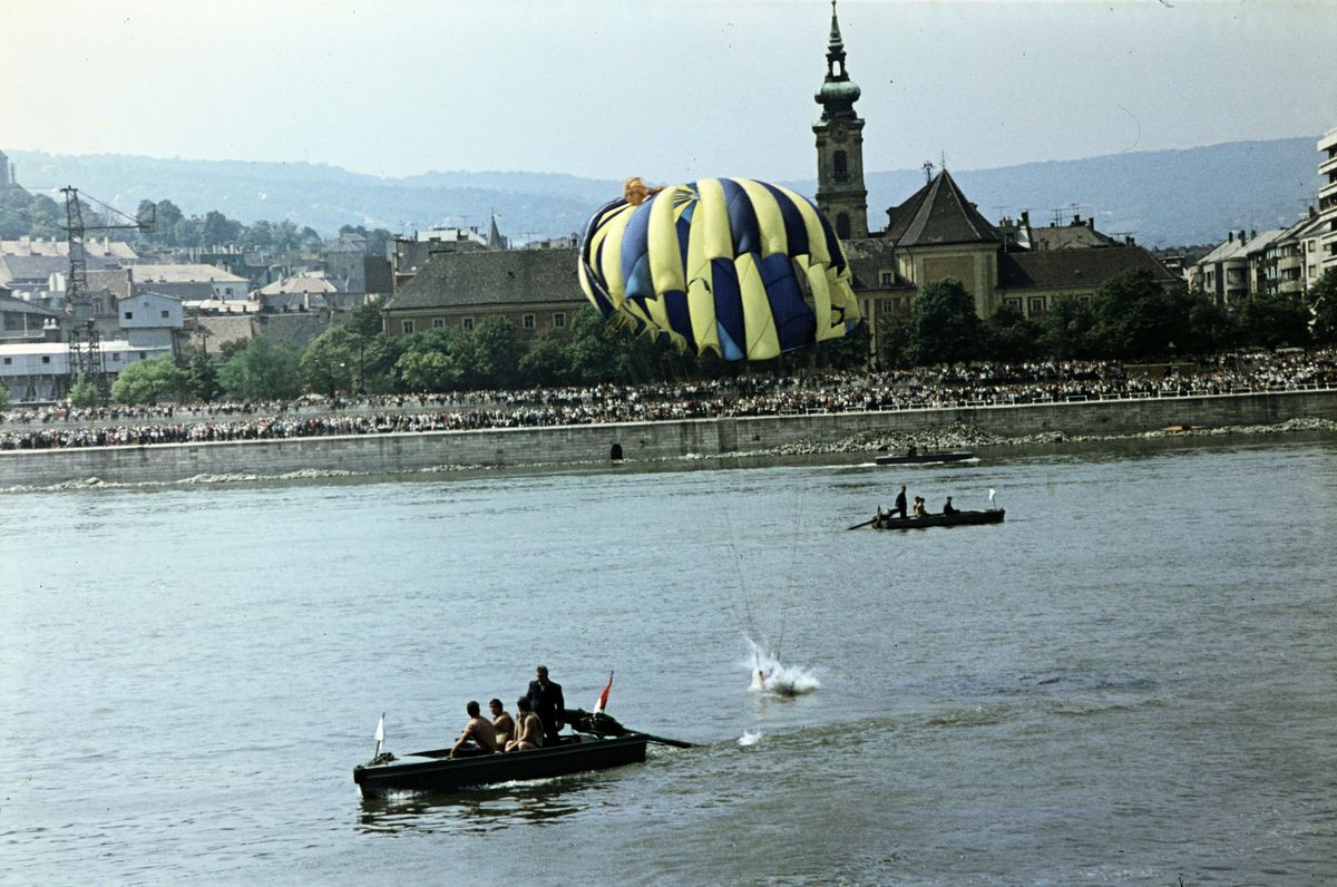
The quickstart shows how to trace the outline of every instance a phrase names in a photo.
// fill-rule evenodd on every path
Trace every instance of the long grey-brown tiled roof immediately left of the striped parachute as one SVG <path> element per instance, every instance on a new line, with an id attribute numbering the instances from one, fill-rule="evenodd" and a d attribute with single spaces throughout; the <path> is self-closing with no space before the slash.
<path id="1" fill-rule="evenodd" d="M 575 249 L 439 253 L 386 310 L 584 301 Z"/>

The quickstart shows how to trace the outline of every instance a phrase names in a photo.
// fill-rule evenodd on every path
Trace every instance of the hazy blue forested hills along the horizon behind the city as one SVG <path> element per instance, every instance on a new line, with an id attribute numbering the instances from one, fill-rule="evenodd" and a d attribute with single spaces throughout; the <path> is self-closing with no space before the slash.
<path id="1" fill-rule="evenodd" d="M 1147 246 L 1214 243 L 1226 231 L 1296 221 L 1318 193 L 1317 138 L 1231 142 L 1178 151 L 1138 151 L 1082 161 L 1025 163 L 952 175 L 993 222 L 1029 210 L 1032 225 L 1060 211 Z M 3 147 L 3 146 L 0 146 Z M 182 161 L 132 155 L 55 155 L 5 149 L 32 191 L 74 185 L 134 213 L 168 199 L 187 214 L 219 210 L 246 223 L 291 219 L 333 234 L 341 225 L 412 231 L 436 225 L 487 229 L 496 213 L 515 241 L 579 231 L 620 181 L 556 173 L 425 173 L 382 178 L 312 163 Z M 870 161 L 876 162 L 873 158 Z M 651 175 L 652 178 L 652 175 Z M 869 225 L 924 183 L 919 170 L 869 173 Z M 785 182 L 813 194 L 816 179 Z"/>

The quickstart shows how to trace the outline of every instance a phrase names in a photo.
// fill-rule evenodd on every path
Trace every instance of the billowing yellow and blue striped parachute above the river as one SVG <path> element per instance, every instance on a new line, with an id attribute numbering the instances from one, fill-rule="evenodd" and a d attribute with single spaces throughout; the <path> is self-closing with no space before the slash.
<path id="1" fill-rule="evenodd" d="M 729 361 L 770 360 L 858 325 L 845 253 L 812 201 L 766 182 L 699 179 L 639 202 L 631 182 L 631 199 L 599 209 L 580 245 L 580 286 L 604 320 Z"/>

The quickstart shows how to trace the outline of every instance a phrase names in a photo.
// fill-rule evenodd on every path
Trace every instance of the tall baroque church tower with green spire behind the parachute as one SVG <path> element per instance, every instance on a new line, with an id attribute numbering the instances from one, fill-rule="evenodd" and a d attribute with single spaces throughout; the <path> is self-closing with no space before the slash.
<path id="1" fill-rule="evenodd" d="M 868 237 L 868 189 L 864 187 L 864 119 L 854 114 L 860 90 L 845 70 L 845 43 L 832 0 L 832 33 L 826 44 L 826 79 L 813 96 L 822 116 L 817 134 L 817 207 L 841 238 Z"/>

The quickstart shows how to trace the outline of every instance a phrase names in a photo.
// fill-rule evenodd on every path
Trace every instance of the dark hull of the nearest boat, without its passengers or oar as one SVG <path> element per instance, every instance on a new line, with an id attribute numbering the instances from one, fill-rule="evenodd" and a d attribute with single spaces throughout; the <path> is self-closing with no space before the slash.
<path id="1" fill-rule="evenodd" d="M 648 738 L 640 733 L 610 738 L 580 737 L 579 743 L 511 755 L 447 757 L 449 749 L 409 755 L 389 764 L 353 768 L 364 797 L 394 792 L 451 792 L 568 773 L 607 769 L 646 760 Z"/>

